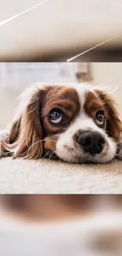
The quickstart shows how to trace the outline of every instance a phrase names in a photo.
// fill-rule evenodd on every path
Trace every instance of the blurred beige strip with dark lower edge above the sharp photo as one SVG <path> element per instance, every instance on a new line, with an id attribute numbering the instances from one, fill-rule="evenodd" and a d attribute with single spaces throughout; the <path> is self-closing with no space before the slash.
<path id="1" fill-rule="evenodd" d="M 106 39 L 115 39 L 76 61 L 122 60 L 122 1 L 0 0 L 0 61 L 66 61 Z"/>

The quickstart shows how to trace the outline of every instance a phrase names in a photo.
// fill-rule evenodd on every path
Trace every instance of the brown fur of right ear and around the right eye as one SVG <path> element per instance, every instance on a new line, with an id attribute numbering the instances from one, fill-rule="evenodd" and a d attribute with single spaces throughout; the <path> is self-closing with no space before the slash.
<path id="1" fill-rule="evenodd" d="M 92 91 L 88 91 L 84 109 L 93 119 L 98 110 L 103 110 L 105 124 L 102 128 L 116 141 L 119 139 L 120 132 L 122 131 L 122 123 L 116 108 L 116 102 L 114 102 L 113 98 L 110 98 L 104 91 L 96 90 L 95 94 Z"/>

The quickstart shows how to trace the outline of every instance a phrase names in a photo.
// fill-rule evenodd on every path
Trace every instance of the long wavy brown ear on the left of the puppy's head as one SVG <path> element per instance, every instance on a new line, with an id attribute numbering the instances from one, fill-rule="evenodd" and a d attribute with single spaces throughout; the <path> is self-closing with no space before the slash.
<path id="1" fill-rule="evenodd" d="M 43 155 L 43 127 L 39 114 L 42 94 L 40 89 L 32 94 L 10 128 L 9 143 L 2 143 L 3 150 L 13 154 L 13 158 L 31 159 Z"/>

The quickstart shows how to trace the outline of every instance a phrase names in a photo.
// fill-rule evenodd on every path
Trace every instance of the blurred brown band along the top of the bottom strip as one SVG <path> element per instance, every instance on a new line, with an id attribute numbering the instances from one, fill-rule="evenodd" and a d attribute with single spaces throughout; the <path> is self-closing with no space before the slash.
<path id="1" fill-rule="evenodd" d="M 121 210 L 122 195 L 0 195 L 0 202 L 17 216 L 41 221 Z"/>

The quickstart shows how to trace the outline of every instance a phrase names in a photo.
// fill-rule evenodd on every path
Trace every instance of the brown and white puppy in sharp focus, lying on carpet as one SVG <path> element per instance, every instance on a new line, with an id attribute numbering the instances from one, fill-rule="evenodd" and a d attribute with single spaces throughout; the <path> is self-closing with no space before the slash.
<path id="1" fill-rule="evenodd" d="M 122 123 L 105 91 L 82 83 L 35 84 L 20 99 L 9 134 L 1 139 L 1 156 L 76 163 L 122 158 Z"/>

